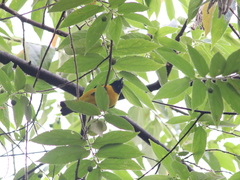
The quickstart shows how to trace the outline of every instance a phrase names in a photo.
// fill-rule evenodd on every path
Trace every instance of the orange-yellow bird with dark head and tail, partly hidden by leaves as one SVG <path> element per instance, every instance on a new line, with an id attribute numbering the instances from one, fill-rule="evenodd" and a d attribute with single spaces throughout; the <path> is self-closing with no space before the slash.
<path id="1" fill-rule="evenodd" d="M 106 91 L 108 93 L 109 108 L 112 108 L 116 105 L 119 95 L 121 93 L 121 90 L 123 88 L 123 78 L 114 81 L 112 84 L 104 86 L 104 88 L 106 89 Z M 93 89 L 85 92 L 82 96 L 80 96 L 78 98 L 78 100 L 97 105 L 96 100 L 95 100 L 95 91 L 96 91 L 96 88 L 93 88 Z M 67 105 L 64 103 L 64 101 L 60 102 L 60 106 L 62 107 L 61 114 L 63 116 L 66 116 L 66 115 L 74 112 L 70 108 L 67 107 Z"/>

